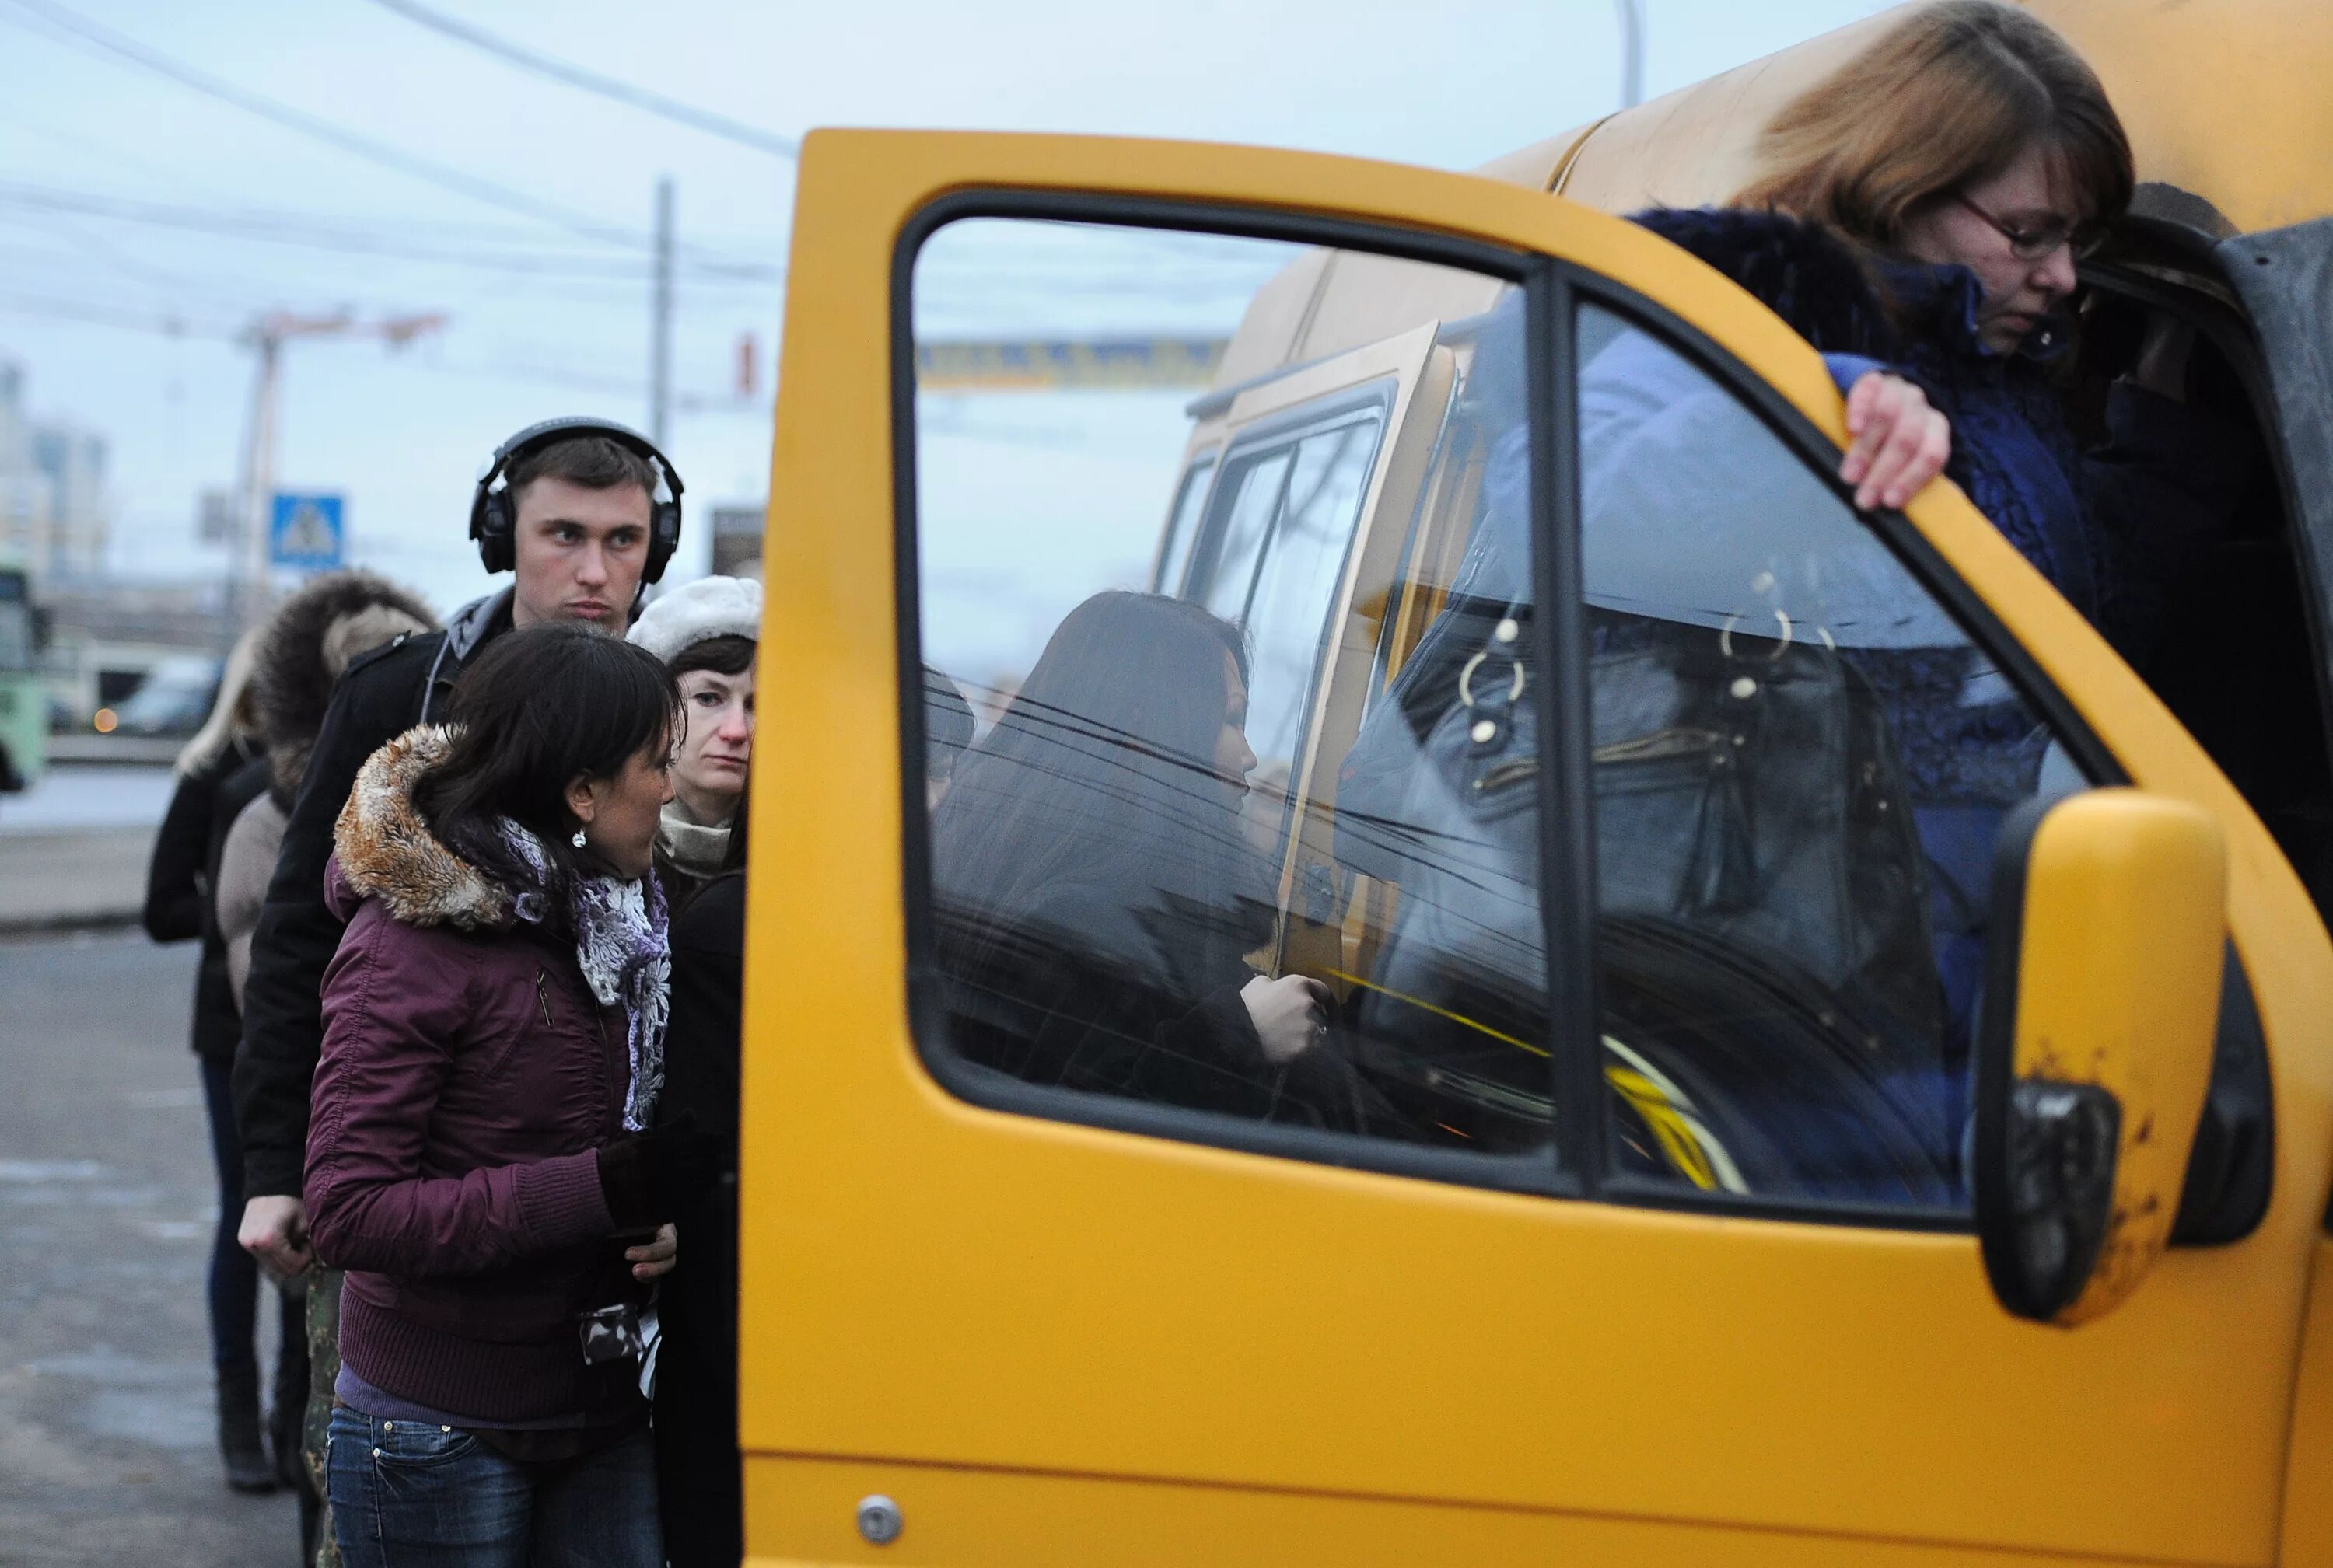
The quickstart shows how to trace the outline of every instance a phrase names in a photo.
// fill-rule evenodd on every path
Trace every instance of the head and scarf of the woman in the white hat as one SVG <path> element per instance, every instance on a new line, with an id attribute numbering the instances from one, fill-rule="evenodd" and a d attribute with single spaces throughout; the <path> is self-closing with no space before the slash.
<path id="1" fill-rule="evenodd" d="M 630 642 L 656 653 L 681 684 L 688 733 L 672 763 L 672 803 L 656 833 L 656 873 L 679 910 L 728 859 L 730 821 L 754 756 L 754 651 L 761 583 L 700 576 L 639 614 Z"/>

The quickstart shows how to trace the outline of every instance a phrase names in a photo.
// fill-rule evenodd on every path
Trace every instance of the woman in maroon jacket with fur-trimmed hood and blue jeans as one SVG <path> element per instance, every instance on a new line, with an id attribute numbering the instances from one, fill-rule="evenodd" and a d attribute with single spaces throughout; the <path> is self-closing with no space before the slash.
<path id="1" fill-rule="evenodd" d="M 306 1199 L 348 1269 L 341 1554 L 656 1568 L 637 1321 L 691 1132 L 649 1132 L 649 868 L 679 693 L 651 653 L 544 625 L 497 639 L 450 716 L 373 754 L 327 868 L 348 933 Z"/>

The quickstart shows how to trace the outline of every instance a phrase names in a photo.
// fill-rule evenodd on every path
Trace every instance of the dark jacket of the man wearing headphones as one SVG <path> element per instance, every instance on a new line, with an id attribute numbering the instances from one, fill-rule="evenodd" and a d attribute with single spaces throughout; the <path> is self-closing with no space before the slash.
<path id="1" fill-rule="evenodd" d="M 243 987 L 236 1127 L 245 1197 L 299 1197 L 301 1190 L 308 1087 L 324 1048 L 324 966 L 341 947 L 341 922 L 324 905 L 331 824 L 364 761 L 425 716 L 443 716 L 455 677 L 509 628 L 511 590 L 504 588 L 464 604 L 443 632 L 399 637 L 355 658 L 331 695 L 259 910 L 252 978 Z"/>

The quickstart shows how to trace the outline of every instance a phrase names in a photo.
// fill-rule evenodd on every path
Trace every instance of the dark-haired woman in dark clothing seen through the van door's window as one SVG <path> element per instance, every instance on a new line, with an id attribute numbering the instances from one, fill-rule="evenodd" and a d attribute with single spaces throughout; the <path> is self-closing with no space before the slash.
<path id="1" fill-rule="evenodd" d="M 1055 630 L 933 817 L 954 1043 L 1027 1083 L 1353 1127 L 1327 992 L 1257 975 L 1241 838 L 1246 646 L 1183 600 L 1101 593 Z"/>

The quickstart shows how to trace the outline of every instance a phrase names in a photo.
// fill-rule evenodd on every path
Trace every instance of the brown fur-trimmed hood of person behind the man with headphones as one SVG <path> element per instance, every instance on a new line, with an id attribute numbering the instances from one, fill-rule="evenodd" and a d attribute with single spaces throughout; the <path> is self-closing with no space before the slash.
<path id="1" fill-rule="evenodd" d="M 252 714 L 278 805 L 289 810 L 299 793 L 308 751 L 348 660 L 404 630 L 434 625 L 427 604 L 371 572 L 331 572 L 275 609 L 252 670 Z"/>

